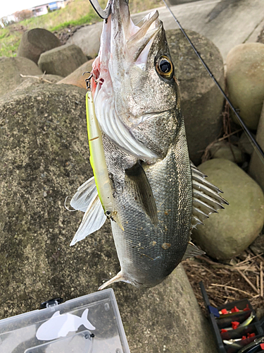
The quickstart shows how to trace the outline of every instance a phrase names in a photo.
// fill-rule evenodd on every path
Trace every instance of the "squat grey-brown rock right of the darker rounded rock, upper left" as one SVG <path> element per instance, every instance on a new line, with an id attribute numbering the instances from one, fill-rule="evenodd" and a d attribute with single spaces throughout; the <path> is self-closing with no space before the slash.
<path id="1" fill-rule="evenodd" d="M 42 53 L 38 65 L 43 72 L 65 77 L 86 61 L 82 49 L 75 44 L 65 44 Z"/>

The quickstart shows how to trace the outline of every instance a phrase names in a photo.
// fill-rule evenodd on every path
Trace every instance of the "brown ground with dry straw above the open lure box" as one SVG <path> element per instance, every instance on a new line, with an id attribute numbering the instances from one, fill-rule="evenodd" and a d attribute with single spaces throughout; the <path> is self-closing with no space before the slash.
<path id="1" fill-rule="evenodd" d="M 203 313 L 207 314 L 207 310 L 199 286 L 201 281 L 212 306 L 249 299 L 258 318 L 264 316 L 264 234 L 260 234 L 248 249 L 226 263 L 208 256 L 198 256 L 183 261 L 182 265 Z"/>

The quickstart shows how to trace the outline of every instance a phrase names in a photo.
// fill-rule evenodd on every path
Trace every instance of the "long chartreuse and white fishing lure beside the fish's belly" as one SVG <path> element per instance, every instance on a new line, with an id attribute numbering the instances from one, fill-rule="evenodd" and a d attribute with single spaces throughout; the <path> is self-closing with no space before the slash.
<path id="1" fill-rule="evenodd" d="M 106 167 L 106 157 L 103 152 L 101 130 L 96 119 L 94 100 L 90 90 L 87 91 L 86 94 L 86 112 L 90 163 L 94 171 L 94 180 L 101 205 L 103 206 L 106 217 L 114 220 L 119 227 L 124 230 L 118 217 L 118 213 L 114 208 L 113 191 L 111 189 L 108 170 Z"/>

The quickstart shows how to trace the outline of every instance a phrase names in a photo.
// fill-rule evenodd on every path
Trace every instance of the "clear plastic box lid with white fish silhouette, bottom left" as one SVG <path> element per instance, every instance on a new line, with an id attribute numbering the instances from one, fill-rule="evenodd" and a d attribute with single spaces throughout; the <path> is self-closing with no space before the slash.
<path id="1" fill-rule="evenodd" d="M 0 321 L 0 353 L 129 353 L 113 289 Z"/>

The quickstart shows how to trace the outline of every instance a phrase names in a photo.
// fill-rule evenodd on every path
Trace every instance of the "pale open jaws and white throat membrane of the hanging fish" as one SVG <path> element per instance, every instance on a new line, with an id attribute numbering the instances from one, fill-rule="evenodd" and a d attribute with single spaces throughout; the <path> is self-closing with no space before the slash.
<path id="1" fill-rule="evenodd" d="M 156 35 L 163 28 L 158 11 L 152 11 L 134 25 L 126 0 L 109 0 L 111 14 L 103 23 L 99 55 L 93 63 L 92 94 L 101 131 L 125 152 L 142 160 L 158 156 L 134 138 L 128 119 L 140 121 L 129 112 L 132 97 L 131 72 L 146 71 Z M 129 91 L 130 90 L 130 91 Z M 131 99 L 131 98 L 130 98 Z M 129 116 L 125 121 L 124 116 Z"/>

